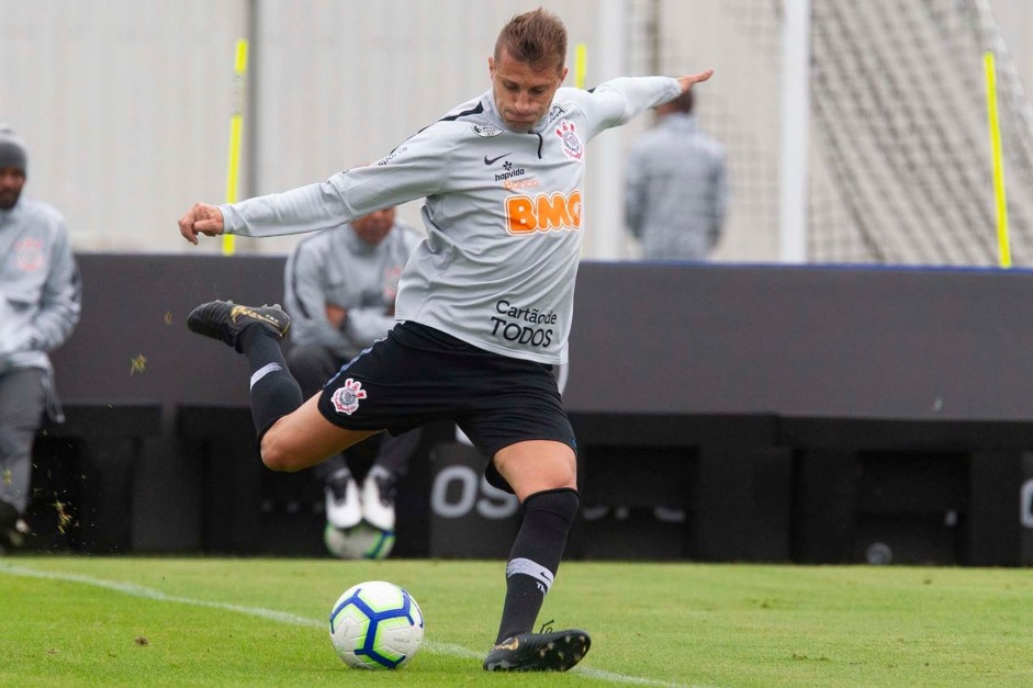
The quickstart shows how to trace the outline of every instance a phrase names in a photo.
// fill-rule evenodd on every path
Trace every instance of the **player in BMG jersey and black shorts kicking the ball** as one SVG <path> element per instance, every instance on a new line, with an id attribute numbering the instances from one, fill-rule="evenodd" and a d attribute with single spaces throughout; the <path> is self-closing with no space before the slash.
<path id="1" fill-rule="evenodd" d="M 516 494 L 524 521 L 489 670 L 566 670 L 583 630 L 532 632 L 577 511 L 576 444 L 551 368 L 566 361 L 582 237 L 585 145 L 604 129 L 705 81 L 620 78 L 560 88 L 566 30 L 542 9 L 514 16 L 487 59 L 491 89 L 369 167 L 226 205 L 194 204 L 182 236 L 324 229 L 426 196 L 428 237 L 409 258 L 388 337 L 307 402 L 289 375 L 276 306 L 211 302 L 188 326 L 248 358 L 262 462 L 314 465 L 381 431 L 452 419 Z M 546 629 L 542 629 L 546 631 Z"/>

